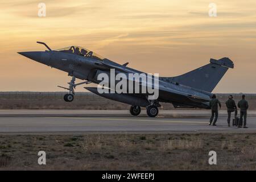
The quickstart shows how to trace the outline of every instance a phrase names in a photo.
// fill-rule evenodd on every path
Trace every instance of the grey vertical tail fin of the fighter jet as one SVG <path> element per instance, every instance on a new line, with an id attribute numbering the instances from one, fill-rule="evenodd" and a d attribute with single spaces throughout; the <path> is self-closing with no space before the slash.
<path id="1" fill-rule="evenodd" d="M 228 68 L 234 68 L 233 61 L 228 57 L 223 57 L 219 60 L 210 59 L 210 64 L 183 75 L 168 78 L 172 82 L 212 92 L 226 71 L 228 71 Z"/>

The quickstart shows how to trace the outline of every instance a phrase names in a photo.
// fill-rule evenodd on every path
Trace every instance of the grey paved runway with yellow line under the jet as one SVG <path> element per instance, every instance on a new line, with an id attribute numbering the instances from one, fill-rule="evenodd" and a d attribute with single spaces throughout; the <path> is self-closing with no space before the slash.
<path id="1" fill-rule="evenodd" d="M 226 111 L 220 111 L 217 126 L 208 126 L 209 110 L 160 110 L 156 118 L 145 110 L 138 117 L 127 110 L 0 110 L 0 133 L 254 133 L 256 112 L 248 115 L 249 129 L 240 129 L 227 126 Z"/>

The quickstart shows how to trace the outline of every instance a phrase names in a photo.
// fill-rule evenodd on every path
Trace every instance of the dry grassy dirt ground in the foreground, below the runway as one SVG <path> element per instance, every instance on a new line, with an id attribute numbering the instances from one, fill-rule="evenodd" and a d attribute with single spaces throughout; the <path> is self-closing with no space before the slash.
<path id="1" fill-rule="evenodd" d="M 255 170 L 256 134 L 0 135 L 1 170 Z M 217 165 L 209 165 L 209 151 Z M 46 152 L 46 165 L 38 152 Z"/>

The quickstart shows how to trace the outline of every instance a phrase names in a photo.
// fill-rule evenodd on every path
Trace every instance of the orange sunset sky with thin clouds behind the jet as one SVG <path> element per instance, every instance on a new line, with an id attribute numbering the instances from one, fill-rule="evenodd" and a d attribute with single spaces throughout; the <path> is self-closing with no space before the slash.
<path id="1" fill-rule="evenodd" d="M 46 17 L 38 4 L 46 4 Z M 117 63 L 177 76 L 229 57 L 215 93 L 256 93 L 256 1 L 12 0 L 0 3 L 0 91 L 63 91 L 71 77 L 19 55 L 81 46 Z M 80 86 L 77 91 L 85 91 Z"/>

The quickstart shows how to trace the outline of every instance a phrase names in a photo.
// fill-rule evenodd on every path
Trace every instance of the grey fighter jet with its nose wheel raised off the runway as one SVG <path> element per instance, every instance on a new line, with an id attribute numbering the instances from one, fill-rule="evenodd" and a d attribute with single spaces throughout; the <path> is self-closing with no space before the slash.
<path id="1" fill-rule="evenodd" d="M 77 85 L 95 83 L 100 81 L 97 77 L 100 73 L 110 74 L 111 69 L 115 73 L 143 73 L 127 67 L 128 63 L 118 64 L 105 57 L 99 56 L 88 49 L 71 46 L 63 49 L 52 50 L 43 42 L 38 42 L 47 47 L 46 51 L 18 52 L 39 63 L 46 64 L 49 67 L 60 69 L 72 76 L 69 87 L 61 88 L 69 90 L 64 96 L 67 102 L 73 101 Z M 147 114 L 150 117 L 158 115 L 160 102 L 169 102 L 175 108 L 203 108 L 209 109 L 209 100 L 212 96 L 212 90 L 221 80 L 222 76 L 228 71 L 228 68 L 234 68 L 233 61 L 228 57 L 219 60 L 210 59 L 210 63 L 197 68 L 191 72 L 175 77 L 159 77 L 159 97 L 155 100 L 148 99 L 148 94 L 130 94 L 130 93 L 98 93 L 95 87 L 85 87 L 85 89 L 98 94 L 99 96 L 109 98 L 131 105 L 130 113 L 139 115 L 141 107 L 146 107 Z M 76 78 L 85 80 L 75 84 Z"/>

